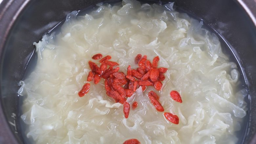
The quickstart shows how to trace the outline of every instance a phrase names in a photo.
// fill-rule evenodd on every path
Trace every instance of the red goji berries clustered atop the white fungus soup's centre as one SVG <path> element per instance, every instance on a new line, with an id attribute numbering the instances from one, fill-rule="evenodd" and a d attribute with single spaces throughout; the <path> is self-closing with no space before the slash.
<path id="1" fill-rule="evenodd" d="M 147 55 L 142 56 L 138 54 L 135 58 L 135 63 L 138 64 L 139 67 L 135 70 L 131 69 L 129 65 L 126 74 L 119 72 L 119 67 L 117 67 L 119 64 L 110 61 L 111 56 L 109 55 L 102 58 L 102 54 L 98 53 L 95 54 L 92 59 L 100 59 L 99 62 L 101 64 L 98 67 L 96 63 L 92 61 L 88 62 L 91 71 L 88 74 L 87 81 L 94 80 L 94 83 L 97 84 L 100 79 L 103 78 L 105 80 L 107 95 L 115 99 L 116 102 L 123 104 L 125 118 L 128 118 L 130 112 L 130 104 L 126 102 L 126 97 L 131 97 L 140 86 L 143 91 L 145 91 L 147 86 L 154 86 L 157 91 L 160 91 L 162 88 L 161 81 L 165 79 L 163 73 L 168 70 L 167 68 L 158 68 L 159 56 L 156 56 L 151 63 L 150 60 L 147 60 Z M 89 89 L 90 83 L 86 83 L 78 95 L 80 97 L 84 96 L 89 92 Z M 182 102 L 181 96 L 177 91 L 171 91 L 170 95 L 173 100 L 180 103 Z M 154 91 L 150 91 L 148 97 L 157 111 L 164 111 L 164 108 L 159 102 L 159 96 Z M 133 109 L 137 106 L 137 102 L 132 104 Z M 174 124 L 179 123 L 179 117 L 177 115 L 172 113 L 164 113 L 163 115 L 170 122 Z"/>

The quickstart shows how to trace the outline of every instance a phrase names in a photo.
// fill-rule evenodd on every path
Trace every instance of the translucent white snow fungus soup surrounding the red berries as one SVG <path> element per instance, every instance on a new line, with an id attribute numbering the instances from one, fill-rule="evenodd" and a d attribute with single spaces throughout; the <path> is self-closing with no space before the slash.
<path id="1" fill-rule="evenodd" d="M 58 34 L 34 43 L 37 64 L 18 92 L 26 97 L 21 118 L 27 137 L 36 144 L 120 144 L 131 138 L 141 144 L 236 143 L 247 110 L 237 66 L 215 34 L 172 5 L 98 4 L 86 15 L 68 14 Z M 102 79 L 78 97 L 96 53 L 111 55 L 125 73 L 128 65 L 138 67 L 138 53 L 151 61 L 158 55 L 159 67 L 168 68 L 162 90 L 139 88 L 128 100 L 138 107 L 127 119 L 122 104 L 106 95 Z M 151 90 L 165 112 L 179 116 L 178 125 L 156 111 L 147 96 Z M 180 92 L 182 103 L 170 98 L 171 90 Z"/>

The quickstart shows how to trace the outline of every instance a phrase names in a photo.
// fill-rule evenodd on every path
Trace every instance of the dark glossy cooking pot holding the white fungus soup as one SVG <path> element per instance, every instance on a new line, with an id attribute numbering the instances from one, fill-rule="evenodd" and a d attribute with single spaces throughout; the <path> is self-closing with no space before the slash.
<path id="1" fill-rule="evenodd" d="M 29 61 L 35 59 L 32 42 L 38 42 L 67 13 L 102 1 L 106 0 L 3 0 L 0 5 L 1 144 L 25 143 L 17 91 L 19 81 L 29 73 L 26 71 Z M 162 0 L 163 3 L 172 1 L 177 10 L 202 19 L 204 25 L 219 36 L 224 50 L 234 55 L 249 93 L 245 98 L 248 103 L 246 121 L 239 132 L 238 143 L 256 143 L 256 1 Z"/>

